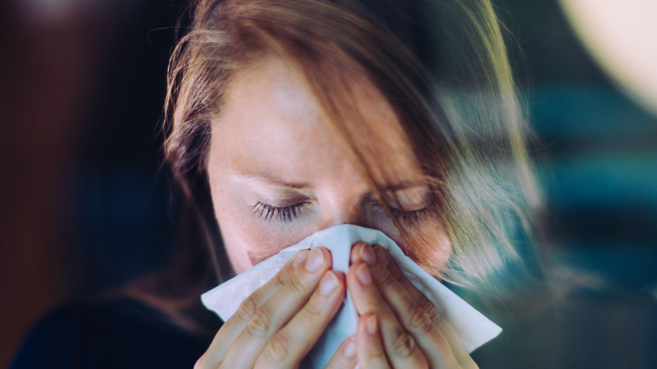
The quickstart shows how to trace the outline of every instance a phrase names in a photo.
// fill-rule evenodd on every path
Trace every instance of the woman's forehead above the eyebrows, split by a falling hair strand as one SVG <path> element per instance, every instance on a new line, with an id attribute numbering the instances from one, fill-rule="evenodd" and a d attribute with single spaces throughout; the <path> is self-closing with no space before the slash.
<path id="1" fill-rule="evenodd" d="M 344 123 L 377 181 L 420 175 L 390 104 L 364 76 L 350 81 L 349 101 L 359 114 L 344 114 Z M 312 167 L 339 172 L 352 166 L 315 95 L 279 58 L 253 64 L 231 81 L 212 142 L 227 163 L 273 167 L 290 177 Z"/>

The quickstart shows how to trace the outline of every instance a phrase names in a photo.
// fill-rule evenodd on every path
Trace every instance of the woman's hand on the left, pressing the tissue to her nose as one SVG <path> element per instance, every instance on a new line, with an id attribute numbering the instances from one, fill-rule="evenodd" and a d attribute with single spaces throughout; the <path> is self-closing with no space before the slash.
<path id="1" fill-rule="evenodd" d="M 247 297 L 194 368 L 296 368 L 346 292 L 344 274 L 330 269 L 330 251 L 299 251 Z M 327 368 L 353 368 L 355 339 L 342 342 Z"/>

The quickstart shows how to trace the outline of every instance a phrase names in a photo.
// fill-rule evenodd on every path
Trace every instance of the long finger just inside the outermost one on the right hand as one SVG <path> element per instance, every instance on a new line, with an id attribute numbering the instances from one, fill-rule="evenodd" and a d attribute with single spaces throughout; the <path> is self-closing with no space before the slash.
<path id="1" fill-rule="evenodd" d="M 364 253 L 376 255 L 376 261 L 371 266 L 371 274 L 374 284 L 384 300 L 392 309 L 397 320 L 413 336 L 417 345 L 424 352 L 432 368 L 454 368 L 458 361 L 454 356 L 451 346 L 443 333 L 438 329 L 429 315 L 417 304 L 415 299 L 401 286 L 386 268 L 385 255 L 381 253 L 383 248 L 377 246 L 375 250 L 368 244 L 362 246 Z"/>

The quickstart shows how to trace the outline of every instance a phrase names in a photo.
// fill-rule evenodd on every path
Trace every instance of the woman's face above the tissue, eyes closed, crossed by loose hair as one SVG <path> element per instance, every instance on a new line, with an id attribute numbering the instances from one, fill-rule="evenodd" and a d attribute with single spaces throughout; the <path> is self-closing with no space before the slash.
<path id="1" fill-rule="evenodd" d="M 443 263 L 449 242 L 422 184 L 420 165 L 392 108 L 365 79 L 353 101 L 375 137 L 358 137 L 366 160 L 412 237 L 422 234 Z M 309 234 L 343 223 L 376 228 L 404 247 L 399 232 L 361 177 L 313 95 L 282 60 L 269 58 L 231 82 L 213 124 L 208 174 L 215 215 L 235 272 Z M 428 207 L 429 206 L 429 207 Z M 415 236 L 414 236 L 415 235 Z M 411 255 L 413 257 L 413 255 Z M 435 264 L 434 264 L 435 265 Z"/>

